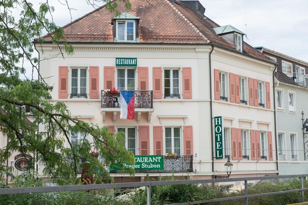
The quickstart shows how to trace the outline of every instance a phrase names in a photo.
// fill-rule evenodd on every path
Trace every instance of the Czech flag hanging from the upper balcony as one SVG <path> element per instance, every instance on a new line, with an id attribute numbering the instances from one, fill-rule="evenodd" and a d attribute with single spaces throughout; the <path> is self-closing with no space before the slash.
<path id="1" fill-rule="evenodd" d="M 135 91 L 121 91 L 120 119 L 135 119 Z"/>

